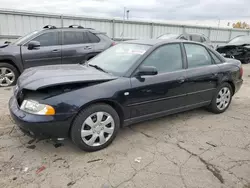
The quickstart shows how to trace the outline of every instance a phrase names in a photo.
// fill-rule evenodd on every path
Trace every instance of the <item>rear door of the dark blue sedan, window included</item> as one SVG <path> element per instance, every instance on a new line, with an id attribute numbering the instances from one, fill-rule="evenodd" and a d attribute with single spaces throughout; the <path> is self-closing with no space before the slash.
<path id="1" fill-rule="evenodd" d="M 203 45 L 184 43 L 184 47 L 188 63 L 188 104 L 209 103 L 218 86 L 220 69 Z"/>

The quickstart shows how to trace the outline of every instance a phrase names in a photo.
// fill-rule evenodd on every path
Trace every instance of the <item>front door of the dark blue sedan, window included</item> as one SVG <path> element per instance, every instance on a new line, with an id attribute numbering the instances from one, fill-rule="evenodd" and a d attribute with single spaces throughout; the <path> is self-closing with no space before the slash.
<path id="1" fill-rule="evenodd" d="M 128 107 L 131 118 L 178 110 L 185 106 L 185 77 L 179 43 L 167 44 L 154 50 L 140 66 L 154 66 L 158 74 L 131 78 Z"/>

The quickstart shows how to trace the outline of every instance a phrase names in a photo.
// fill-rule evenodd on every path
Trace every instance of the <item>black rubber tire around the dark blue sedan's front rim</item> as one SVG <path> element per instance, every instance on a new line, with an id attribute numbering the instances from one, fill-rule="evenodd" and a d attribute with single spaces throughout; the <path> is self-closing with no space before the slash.
<path id="1" fill-rule="evenodd" d="M 81 137 L 82 125 L 83 125 L 84 121 L 89 116 L 91 116 L 93 113 L 100 112 L 100 111 L 106 112 L 112 116 L 112 118 L 114 120 L 114 131 L 113 131 L 113 134 L 111 135 L 111 137 L 109 138 L 109 140 L 107 140 L 103 145 L 90 146 L 90 145 L 86 144 Z M 71 136 L 73 143 L 75 145 L 77 145 L 80 149 L 82 149 L 84 151 L 93 152 L 93 151 L 103 149 L 103 148 L 107 147 L 109 144 L 111 144 L 117 135 L 119 127 L 120 127 L 120 118 L 119 118 L 117 112 L 111 106 L 109 106 L 107 104 L 102 104 L 102 103 L 94 104 L 94 105 L 91 105 L 88 108 L 82 110 L 77 115 L 77 117 L 75 118 L 75 120 L 73 122 L 70 136 Z"/>

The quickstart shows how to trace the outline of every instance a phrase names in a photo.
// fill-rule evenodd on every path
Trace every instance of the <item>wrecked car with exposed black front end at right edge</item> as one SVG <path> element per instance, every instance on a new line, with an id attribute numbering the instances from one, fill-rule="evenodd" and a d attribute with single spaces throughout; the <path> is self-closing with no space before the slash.
<path id="1" fill-rule="evenodd" d="M 216 50 L 225 57 L 238 59 L 245 64 L 250 63 L 250 36 L 237 36 Z"/>

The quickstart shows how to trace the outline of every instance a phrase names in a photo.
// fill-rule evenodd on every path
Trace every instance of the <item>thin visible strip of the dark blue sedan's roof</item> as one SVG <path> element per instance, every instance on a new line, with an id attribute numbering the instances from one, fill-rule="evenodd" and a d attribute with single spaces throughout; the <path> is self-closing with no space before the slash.
<path id="1" fill-rule="evenodd" d="M 124 43 L 130 43 L 130 44 L 144 44 L 144 45 L 161 45 L 161 44 L 168 44 L 168 43 L 175 43 L 175 42 L 185 42 L 185 43 L 194 43 L 194 44 L 201 44 L 199 42 L 195 41 L 187 41 L 187 40 L 180 40 L 180 39 L 143 39 L 143 40 L 128 40 Z"/>

